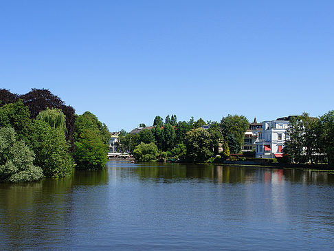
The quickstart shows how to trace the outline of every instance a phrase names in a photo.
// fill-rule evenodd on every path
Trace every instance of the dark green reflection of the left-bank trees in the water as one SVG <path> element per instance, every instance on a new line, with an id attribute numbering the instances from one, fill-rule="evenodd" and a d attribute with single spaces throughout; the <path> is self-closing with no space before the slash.
<path id="1" fill-rule="evenodd" d="M 42 179 L 27 184 L 0 184 L 0 243 L 17 249 L 66 239 L 71 222 L 76 186 L 107 184 L 107 170 L 80 171 L 61 179 Z M 77 206 L 77 205 L 76 205 Z M 58 236 L 55 236 L 55 232 Z M 62 243 L 65 245 L 65 243 Z M 58 247 L 59 248 L 59 247 Z"/>

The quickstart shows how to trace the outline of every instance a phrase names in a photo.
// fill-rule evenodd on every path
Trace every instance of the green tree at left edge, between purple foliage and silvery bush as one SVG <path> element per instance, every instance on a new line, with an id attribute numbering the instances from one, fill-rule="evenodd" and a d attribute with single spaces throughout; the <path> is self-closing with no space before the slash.
<path id="1" fill-rule="evenodd" d="M 0 107 L 0 127 L 12 127 L 19 140 L 27 142 L 31 124 L 29 110 L 23 105 L 22 100 Z"/>

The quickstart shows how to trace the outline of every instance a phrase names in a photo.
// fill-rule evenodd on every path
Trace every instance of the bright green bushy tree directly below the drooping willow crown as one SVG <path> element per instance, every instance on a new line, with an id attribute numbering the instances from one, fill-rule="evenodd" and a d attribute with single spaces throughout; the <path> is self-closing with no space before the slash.
<path id="1" fill-rule="evenodd" d="M 52 128 L 49 123 L 34 120 L 30 144 L 36 153 L 34 163 L 41 166 L 46 177 L 64 177 L 71 174 L 74 160 L 69 154 L 63 128 Z"/>

